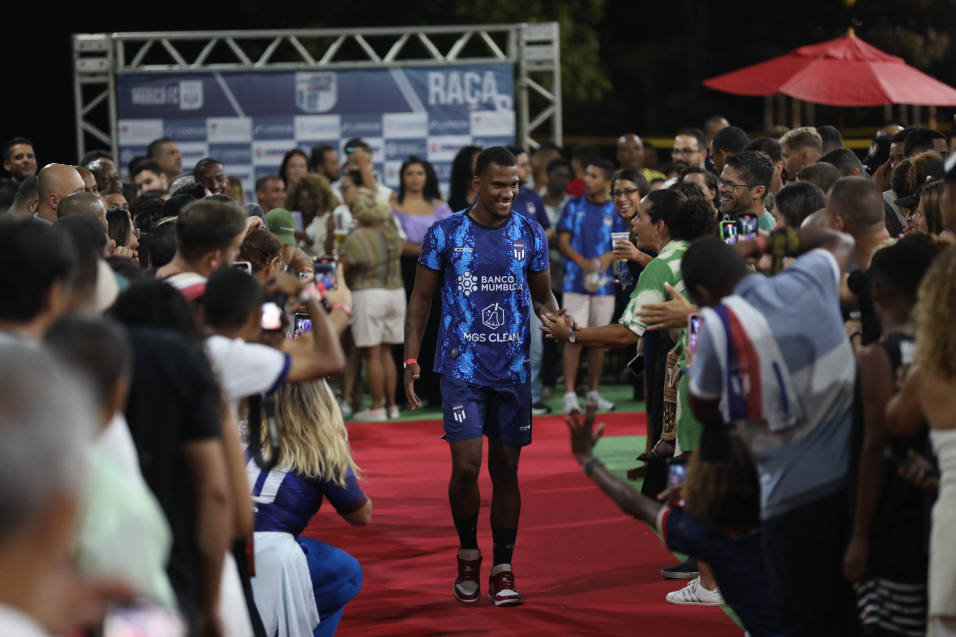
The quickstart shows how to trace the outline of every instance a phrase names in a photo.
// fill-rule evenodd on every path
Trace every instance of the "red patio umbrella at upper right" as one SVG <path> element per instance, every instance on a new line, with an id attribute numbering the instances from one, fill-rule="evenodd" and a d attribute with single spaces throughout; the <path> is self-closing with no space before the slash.
<path id="1" fill-rule="evenodd" d="M 794 49 L 766 62 L 704 80 L 738 96 L 772 96 L 829 106 L 956 106 L 956 89 L 863 42 L 843 37 Z"/>

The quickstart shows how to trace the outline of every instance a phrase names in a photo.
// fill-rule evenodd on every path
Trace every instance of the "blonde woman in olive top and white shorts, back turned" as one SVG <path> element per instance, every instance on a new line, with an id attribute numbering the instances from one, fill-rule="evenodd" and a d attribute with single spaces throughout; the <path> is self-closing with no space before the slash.
<path id="1" fill-rule="evenodd" d="M 398 372 L 391 346 L 404 342 L 402 238 L 391 208 L 374 190 L 359 191 L 355 219 L 359 229 L 338 252 L 345 282 L 352 289 L 352 336 L 365 359 L 372 393 L 372 407 L 355 418 L 380 421 L 399 415 L 395 404 Z"/>

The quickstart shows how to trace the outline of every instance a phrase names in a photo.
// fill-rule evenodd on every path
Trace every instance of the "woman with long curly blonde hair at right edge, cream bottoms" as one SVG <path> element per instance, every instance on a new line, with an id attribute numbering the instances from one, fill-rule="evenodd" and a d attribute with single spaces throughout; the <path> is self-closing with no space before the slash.
<path id="1" fill-rule="evenodd" d="M 916 304 L 916 360 L 886 406 L 886 430 L 905 437 L 929 423 L 939 497 L 929 540 L 929 634 L 956 634 L 956 247 L 926 270 Z M 923 483 L 925 483 L 923 477 Z"/>

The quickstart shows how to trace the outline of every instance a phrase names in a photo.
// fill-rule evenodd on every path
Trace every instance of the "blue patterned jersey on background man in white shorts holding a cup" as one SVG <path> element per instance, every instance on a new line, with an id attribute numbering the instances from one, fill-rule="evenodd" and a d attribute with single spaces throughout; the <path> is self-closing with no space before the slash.
<path id="1" fill-rule="evenodd" d="M 585 259 L 597 259 L 611 251 L 611 233 L 627 232 L 627 223 L 620 218 L 614 202 L 592 203 L 587 197 L 576 197 L 564 206 L 557 231 L 571 233 L 571 247 Z M 564 258 L 564 282 L 561 291 L 607 296 L 614 294 L 614 273 L 609 267 L 611 281 L 591 292 L 584 287 L 584 270 L 571 259 Z"/>

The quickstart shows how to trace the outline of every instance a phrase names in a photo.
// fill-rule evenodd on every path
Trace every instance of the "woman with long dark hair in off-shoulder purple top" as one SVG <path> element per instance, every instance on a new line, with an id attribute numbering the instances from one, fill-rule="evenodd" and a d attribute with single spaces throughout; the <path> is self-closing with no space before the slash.
<path id="1" fill-rule="evenodd" d="M 442 201 L 438 178 L 430 162 L 412 155 L 402 162 L 401 175 L 392 209 L 408 236 L 403 256 L 418 257 L 428 228 L 449 217 L 453 210 Z"/>

